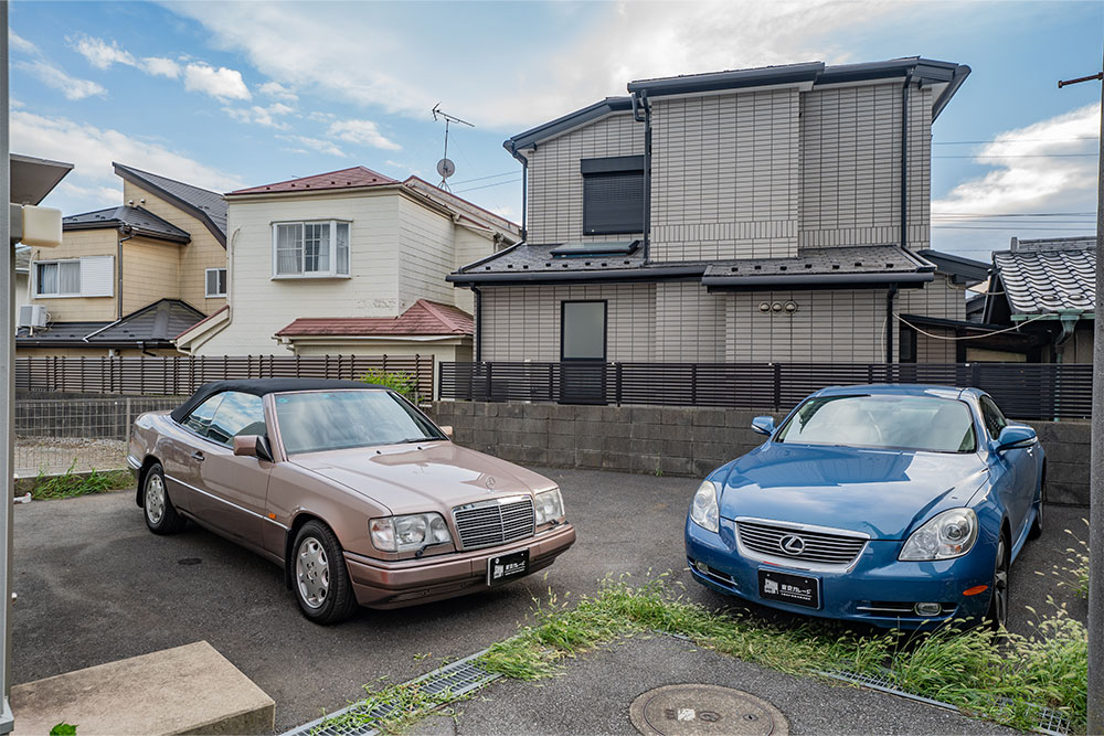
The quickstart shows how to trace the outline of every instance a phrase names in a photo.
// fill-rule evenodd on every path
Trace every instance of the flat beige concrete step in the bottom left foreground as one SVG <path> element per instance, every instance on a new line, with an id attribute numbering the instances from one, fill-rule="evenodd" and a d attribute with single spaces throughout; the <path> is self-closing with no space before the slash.
<path id="1" fill-rule="evenodd" d="M 59 723 L 97 734 L 261 734 L 276 703 L 205 641 L 11 689 L 18 736 Z"/>

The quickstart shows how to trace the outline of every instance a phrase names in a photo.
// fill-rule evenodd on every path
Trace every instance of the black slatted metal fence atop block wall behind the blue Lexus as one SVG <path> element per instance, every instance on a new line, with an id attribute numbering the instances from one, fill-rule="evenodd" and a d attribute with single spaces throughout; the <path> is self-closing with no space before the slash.
<path id="1" fill-rule="evenodd" d="M 923 383 L 989 392 L 1017 419 L 1083 419 L 1092 365 L 1053 363 L 438 363 L 438 396 L 785 412 L 826 386 Z"/>

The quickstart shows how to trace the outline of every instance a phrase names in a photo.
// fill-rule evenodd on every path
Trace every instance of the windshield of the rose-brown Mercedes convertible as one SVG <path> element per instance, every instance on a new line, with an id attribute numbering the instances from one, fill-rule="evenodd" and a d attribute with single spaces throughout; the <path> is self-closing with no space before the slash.
<path id="1" fill-rule="evenodd" d="M 279 394 L 276 418 L 288 455 L 445 439 L 414 407 L 386 391 Z"/>

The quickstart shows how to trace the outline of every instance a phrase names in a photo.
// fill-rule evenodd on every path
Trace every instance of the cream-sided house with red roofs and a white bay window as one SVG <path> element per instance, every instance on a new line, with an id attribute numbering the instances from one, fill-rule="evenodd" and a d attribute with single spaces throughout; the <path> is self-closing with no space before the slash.
<path id="1" fill-rule="evenodd" d="M 177 338 L 191 354 L 470 360 L 473 296 L 445 277 L 520 239 L 421 179 L 363 167 L 226 200 L 229 308 Z"/>

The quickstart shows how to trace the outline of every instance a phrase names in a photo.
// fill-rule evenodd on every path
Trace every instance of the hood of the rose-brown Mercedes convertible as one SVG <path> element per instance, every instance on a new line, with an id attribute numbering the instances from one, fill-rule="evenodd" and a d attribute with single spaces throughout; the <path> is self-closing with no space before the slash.
<path id="1" fill-rule="evenodd" d="M 555 486 L 512 462 L 444 440 L 309 452 L 289 459 L 382 503 L 394 514 L 450 509 Z"/>

